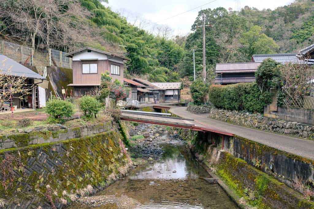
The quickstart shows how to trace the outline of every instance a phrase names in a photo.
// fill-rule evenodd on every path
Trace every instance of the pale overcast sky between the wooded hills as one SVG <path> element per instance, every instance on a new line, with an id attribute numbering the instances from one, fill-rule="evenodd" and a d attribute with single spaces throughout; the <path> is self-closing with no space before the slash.
<path id="1" fill-rule="evenodd" d="M 110 6 L 114 11 L 119 11 L 125 16 L 128 16 L 127 20 L 129 22 L 133 21 L 137 15 L 154 23 L 167 24 L 174 30 L 175 34 L 185 35 L 190 31 L 191 25 L 201 8 L 168 20 L 165 19 L 209 2 L 210 0 L 109 0 L 109 4 L 104 4 L 105 6 Z M 291 2 L 292 0 L 241 0 L 240 6 L 241 8 L 247 5 L 258 9 L 274 9 Z M 226 9 L 231 7 L 235 9 L 236 2 L 234 0 L 216 0 L 202 8 L 217 7 L 224 7 Z"/>

